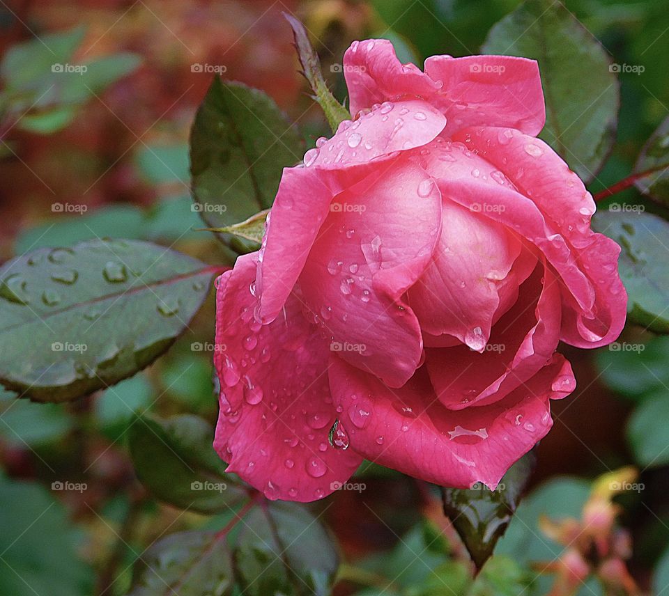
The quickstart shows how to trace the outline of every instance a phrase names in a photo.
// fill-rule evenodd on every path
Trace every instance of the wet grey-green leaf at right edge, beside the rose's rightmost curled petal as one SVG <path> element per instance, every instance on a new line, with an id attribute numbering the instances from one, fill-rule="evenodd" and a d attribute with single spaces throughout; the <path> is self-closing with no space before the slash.
<path id="1" fill-rule="evenodd" d="M 593 227 L 622 246 L 618 270 L 629 297 L 629 318 L 669 333 L 669 224 L 645 212 L 604 211 L 595 214 Z"/>

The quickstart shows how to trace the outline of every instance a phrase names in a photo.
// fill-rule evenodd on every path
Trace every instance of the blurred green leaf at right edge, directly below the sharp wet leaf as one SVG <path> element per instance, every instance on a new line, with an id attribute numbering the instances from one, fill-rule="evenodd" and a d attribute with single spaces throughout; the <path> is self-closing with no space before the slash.
<path id="1" fill-rule="evenodd" d="M 613 391 L 642 400 L 669 385 L 667 354 L 669 337 L 655 337 L 647 343 L 613 343 L 597 350 L 599 377 Z"/>

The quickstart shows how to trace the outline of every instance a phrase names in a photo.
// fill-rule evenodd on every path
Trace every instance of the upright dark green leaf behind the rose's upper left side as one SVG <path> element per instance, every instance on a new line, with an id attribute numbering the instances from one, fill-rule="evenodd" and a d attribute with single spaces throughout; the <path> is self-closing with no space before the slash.
<path id="1" fill-rule="evenodd" d="M 214 79 L 190 137 L 193 198 L 210 228 L 231 226 L 269 209 L 282 168 L 300 159 L 300 137 L 270 97 Z"/>

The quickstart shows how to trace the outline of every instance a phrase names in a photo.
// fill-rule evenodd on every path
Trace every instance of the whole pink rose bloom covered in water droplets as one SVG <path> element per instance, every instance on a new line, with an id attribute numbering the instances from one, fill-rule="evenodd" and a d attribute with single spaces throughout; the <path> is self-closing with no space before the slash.
<path id="1" fill-rule="evenodd" d="M 218 280 L 215 448 L 269 499 L 321 499 L 363 458 L 494 489 L 574 391 L 558 342 L 620 334 L 620 247 L 536 138 L 535 61 L 422 72 L 366 40 L 344 72 L 355 118 L 284 169 L 260 251 Z"/>

